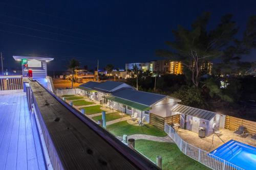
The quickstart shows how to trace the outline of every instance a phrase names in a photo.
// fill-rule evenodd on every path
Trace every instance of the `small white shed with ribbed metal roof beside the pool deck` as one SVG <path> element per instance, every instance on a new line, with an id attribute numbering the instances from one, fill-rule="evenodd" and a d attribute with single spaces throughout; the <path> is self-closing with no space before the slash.
<path id="1" fill-rule="evenodd" d="M 203 109 L 176 104 L 171 108 L 172 114 L 181 114 L 181 128 L 198 133 L 199 128 L 205 129 L 205 136 L 219 130 L 220 115 Z"/>

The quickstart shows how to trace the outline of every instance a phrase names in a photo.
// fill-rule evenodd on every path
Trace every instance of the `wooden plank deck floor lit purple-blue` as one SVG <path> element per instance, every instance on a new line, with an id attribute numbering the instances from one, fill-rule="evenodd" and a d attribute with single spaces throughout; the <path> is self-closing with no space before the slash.
<path id="1" fill-rule="evenodd" d="M 46 169 L 23 90 L 0 91 L 0 169 Z"/>

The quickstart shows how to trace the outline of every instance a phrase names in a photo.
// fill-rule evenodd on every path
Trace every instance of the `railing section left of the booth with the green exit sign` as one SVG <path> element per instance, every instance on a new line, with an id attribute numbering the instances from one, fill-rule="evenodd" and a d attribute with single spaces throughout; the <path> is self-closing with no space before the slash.
<path id="1" fill-rule="evenodd" d="M 0 90 L 23 89 L 22 76 L 0 76 Z"/>

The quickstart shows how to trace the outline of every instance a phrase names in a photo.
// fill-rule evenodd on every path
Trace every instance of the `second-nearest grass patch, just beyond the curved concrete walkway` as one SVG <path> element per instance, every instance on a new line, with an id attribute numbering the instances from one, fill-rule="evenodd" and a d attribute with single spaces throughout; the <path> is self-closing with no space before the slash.
<path id="1" fill-rule="evenodd" d="M 166 136 L 164 131 L 157 129 L 156 127 L 147 124 L 144 126 L 134 126 L 128 124 L 126 121 L 122 121 L 116 124 L 106 126 L 111 133 L 116 136 L 133 135 L 133 134 L 145 134 L 152 136 Z"/>

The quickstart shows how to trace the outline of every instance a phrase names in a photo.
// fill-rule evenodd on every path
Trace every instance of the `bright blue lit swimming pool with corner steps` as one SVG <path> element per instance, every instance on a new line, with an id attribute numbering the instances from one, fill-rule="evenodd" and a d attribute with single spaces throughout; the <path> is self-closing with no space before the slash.
<path id="1" fill-rule="evenodd" d="M 256 148 L 236 140 L 229 140 L 210 154 L 246 170 L 256 169 Z"/>

